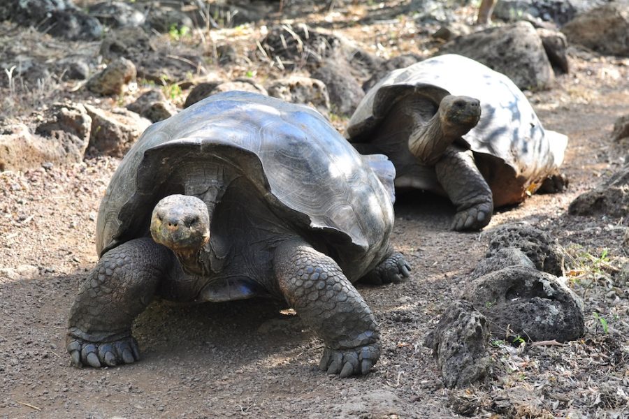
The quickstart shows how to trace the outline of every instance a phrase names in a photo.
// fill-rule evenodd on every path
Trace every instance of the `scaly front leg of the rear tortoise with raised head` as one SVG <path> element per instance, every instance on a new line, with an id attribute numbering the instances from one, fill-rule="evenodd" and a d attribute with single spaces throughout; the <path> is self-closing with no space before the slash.
<path id="1" fill-rule="evenodd" d="M 471 150 L 451 145 L 435 165 L 437 179 L 456 205 L 453 230 L 480 230 L 491 220 L 493 196 Z"/>

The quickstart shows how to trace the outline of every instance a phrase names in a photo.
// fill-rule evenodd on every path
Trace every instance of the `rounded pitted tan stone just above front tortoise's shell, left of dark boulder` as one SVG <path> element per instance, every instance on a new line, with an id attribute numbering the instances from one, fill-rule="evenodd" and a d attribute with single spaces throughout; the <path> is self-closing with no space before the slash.
<path id="1" fill-rule="evenodd" d="M 330 96 L 324 82 L 314 78 L 291 75 L 273 81 L 266 88 L 269 96 L 291 103 L 303 103 L 327 116 L 330 112 Z"/>

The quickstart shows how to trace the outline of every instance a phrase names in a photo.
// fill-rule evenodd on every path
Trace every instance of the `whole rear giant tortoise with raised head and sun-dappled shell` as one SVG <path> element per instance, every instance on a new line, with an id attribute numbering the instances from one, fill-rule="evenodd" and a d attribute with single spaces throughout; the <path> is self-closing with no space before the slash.
<path id="1" fill-rule="evenodd" d="M 494 207 L 561 179 L 567 145 L 507 76 L 456 54 L 386 75 L 356 108 L 347 135 L 361 153 L 389 156 L 396 187 L 450 198 L 455 230 L 483 228 Z"/>

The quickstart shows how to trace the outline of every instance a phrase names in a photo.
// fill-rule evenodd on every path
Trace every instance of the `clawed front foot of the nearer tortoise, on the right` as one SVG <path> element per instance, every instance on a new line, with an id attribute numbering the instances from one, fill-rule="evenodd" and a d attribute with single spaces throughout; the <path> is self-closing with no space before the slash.
<path id="1" fill-rule="evenodd" d="M 332 349 L 326 346 L 319 368 L 340 378 L 366 375 L 380 357 L 380 345 L 370 344 L 349 349 Z"/>

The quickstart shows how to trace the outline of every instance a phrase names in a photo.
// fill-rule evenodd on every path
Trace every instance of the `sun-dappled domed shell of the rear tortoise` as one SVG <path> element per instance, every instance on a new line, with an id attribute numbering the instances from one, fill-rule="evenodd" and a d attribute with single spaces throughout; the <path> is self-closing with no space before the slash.
<path id="1" fill-rule="evenodd" d="M 520 178 L 543 179 L 563 162 L 567 137 L 545 130 L 526 96 L 506 75 L 457 54 L 445 54 L 394 70 L 378 82 L 349 120 L 352 142 L 368 142 L 369 131 L 381 121 L 396 98 L 410 94 L 434 103 L 453 94 L 479 99 L 481 117 L 463 136 L 472 151 L 506 163 Z"/>

